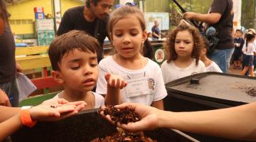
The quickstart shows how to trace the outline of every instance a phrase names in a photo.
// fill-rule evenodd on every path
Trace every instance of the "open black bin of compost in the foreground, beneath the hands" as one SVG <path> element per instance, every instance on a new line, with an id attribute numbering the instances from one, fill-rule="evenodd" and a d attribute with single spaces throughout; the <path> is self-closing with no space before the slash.
<path id="1" fill-rule="evenodd" d="M 115 126 L 103 119 L 100 114 L 97 114 L 97 109 L 91 109 L 60 121 L 38 122 L 32 129 L 23 126 L 11 138 L 13 142 L 85 142 L 92 141 L 94 138 L 111 136 L 116 131 Z M 145 134 L 160 142 L 197 141 L 181 131 L 171 129 L 156 129 L 146 131 Z"/>

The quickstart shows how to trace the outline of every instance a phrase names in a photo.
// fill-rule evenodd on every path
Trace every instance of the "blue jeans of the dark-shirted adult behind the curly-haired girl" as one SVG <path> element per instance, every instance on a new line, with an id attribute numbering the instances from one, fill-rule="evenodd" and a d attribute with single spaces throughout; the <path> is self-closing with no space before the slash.
<path id="1" fill-rule="evenodd" d="M 215 49 L 213 53 L 209 55 L 209 58 L 216 62 L 216 64 L 220 67 L 223 73 L 228 73 L 230 59 L 234 50 L 234 48 L 228 48 L 223 50 Z"/>

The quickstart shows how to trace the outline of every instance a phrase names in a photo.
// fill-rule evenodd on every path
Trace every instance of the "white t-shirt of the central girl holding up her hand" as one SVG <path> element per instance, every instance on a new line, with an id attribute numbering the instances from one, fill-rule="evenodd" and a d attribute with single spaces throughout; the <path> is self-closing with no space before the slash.
<path id="1" fill-rule="evenodd" d="M 104 58 L 99 63 L 100 75 L 97 80 L 96 92 L 98 94 L 107 94 L 107 82 L 105 74 L 107 72 L 114 75 L 120 75 L 124 80 L 137 79 L 146 77 L 149 85 L 153 85 L 150 94 L 139 95 L 136 97 L 129 97 L 125 89 L 121 90 L 121 102 L 134 102 L 151 106 L 152 102 L 159 101 L 166 97 L 167 92 L 164 86 L 164 80 L 161 75 L 161 69 L 156 62 L 148 59 L 148 63 L 140 70 L 129 70 L 117 64 L 112 56 Z M 149 87 L 150 88 L 150 87 Z M 152 88 L 152 87 L 151 87 Z"/>

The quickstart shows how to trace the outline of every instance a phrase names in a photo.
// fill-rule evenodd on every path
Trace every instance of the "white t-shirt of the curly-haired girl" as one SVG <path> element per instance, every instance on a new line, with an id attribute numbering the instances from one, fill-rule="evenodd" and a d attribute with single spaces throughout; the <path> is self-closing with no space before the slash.
<path id="1" fill-rule="evenodd" d="M 201 60 L 199 60 L 198 66 L 196 66 L 196 60 L 193 60 L 191 65 L 186 68 L 177 67 L 174 61 L 168 63 L 167 60 L 165 60 L 161 65 L 161 72 L 163 74 L 164 83 L 169 83 L 188 75 L 206 72 L 206 67 Z"/>

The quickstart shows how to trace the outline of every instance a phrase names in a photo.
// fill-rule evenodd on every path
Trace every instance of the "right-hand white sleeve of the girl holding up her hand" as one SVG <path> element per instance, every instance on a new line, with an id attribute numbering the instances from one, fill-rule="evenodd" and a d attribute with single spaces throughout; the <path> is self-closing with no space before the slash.
<path id="1" fill-rule="evenodd" d="M 156 91 L 154 94 L 153 102 L 164 99 L 164 97 L 167 96 L 163 75 L 159 66 L 156 66 L 156 73 L 155 73 L 154 79 L 156 81 L 156 87 L 155 87 Z"/>

